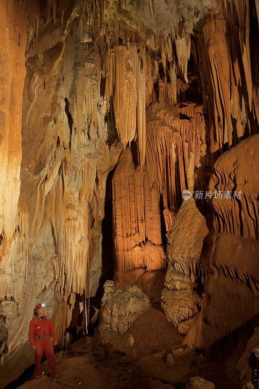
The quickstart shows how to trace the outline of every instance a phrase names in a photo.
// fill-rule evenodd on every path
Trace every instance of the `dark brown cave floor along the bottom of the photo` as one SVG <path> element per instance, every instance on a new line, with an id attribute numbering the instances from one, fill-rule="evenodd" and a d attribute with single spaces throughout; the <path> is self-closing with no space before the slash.
<path id="1" fill-rule="evenodd" d="M 159 353 L 156 355 L 159 355 Z M 162 356 L 140 353 L 129 362 L 126 354 L 114 348 L 94 348 L 94 338 L 82 338 L 65 353 L 56 354 L 58 378 L 51 378 L 46 361 L 40 379 L 31 379 L 23 389 L 180 389 L 187 380 L 200 376 L 216 389 L 237 389 L 224 372 L 224 365 L 209 361 L 202 354 L 185 352 L 174 357 L 168 366 Z"/>

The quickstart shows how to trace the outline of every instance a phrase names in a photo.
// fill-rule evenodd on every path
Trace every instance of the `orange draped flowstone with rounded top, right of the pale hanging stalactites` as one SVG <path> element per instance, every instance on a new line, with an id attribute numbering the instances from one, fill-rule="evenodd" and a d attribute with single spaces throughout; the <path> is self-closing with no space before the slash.
<path id="1" fill-rule="evenodd" d="M 146 112 L 147 170 L 151 181 L 158 183 L 165 209 L 174 213 L 181 204 L 182 191 L 186 188 L 190 152 L 194 154 L 194 161 L 199 166 L 199 131 L 202 132 L 204 126 L 201 125 L 201 106 L 194 106 L 190 104 L 188 110 L 185 106 L 178 108 L 154 103 Z M 178 109 L 180 112 L 185 111 L 190 120 L 179 119 Z M 167 224 L 171 226 L 169 220 Z"/>

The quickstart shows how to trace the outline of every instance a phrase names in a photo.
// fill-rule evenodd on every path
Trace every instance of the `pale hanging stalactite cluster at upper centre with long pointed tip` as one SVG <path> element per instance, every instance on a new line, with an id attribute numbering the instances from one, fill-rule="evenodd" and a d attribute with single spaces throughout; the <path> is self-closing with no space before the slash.
<path id="1" fill-rule="evenodd" d="M 124 148 L 138 134 L 139 163 L 145 161 L 146 52 L 140 45 L 109 49 L 106 53 L 106 101 L 113 96 L 115 124 Z M 114 90 L 114 94 L 113 94 Z"/>

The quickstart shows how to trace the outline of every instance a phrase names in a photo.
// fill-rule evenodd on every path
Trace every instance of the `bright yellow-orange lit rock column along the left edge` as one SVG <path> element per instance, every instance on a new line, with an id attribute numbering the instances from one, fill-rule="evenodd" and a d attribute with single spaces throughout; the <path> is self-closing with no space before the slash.
<path id="1" fill-rule="evenodd" d="M 15 2 L 1 1 L 0 29 L 0 261 L 4 261 L 10 257 L 18 223 L 25 77 L 26 16 Z"/>

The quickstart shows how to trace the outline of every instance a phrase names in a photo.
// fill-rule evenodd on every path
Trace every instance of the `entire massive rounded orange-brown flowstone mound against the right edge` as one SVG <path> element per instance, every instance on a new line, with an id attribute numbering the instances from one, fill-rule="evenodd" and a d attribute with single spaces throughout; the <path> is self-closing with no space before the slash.
<path id="1" fill-rule="evenodd" d="M 258 325 L 257 144 L 258 135 L 254 135 L 224 153 L 215 163 L 209 183 L 210 191 L 216 191 L 211 200 L 215 232 L 205 264 L 203 307 L 186 341 L 207 349 L 214 357 L 219 353 L 220 339 L 235 331 L 240 341 L 247 341 Z M 247 156 L 253 160 L 251 165 Z M 251 324 L 246 328 L 247 321 Z M 232 341 L 230 336 L 230 345 Z"/>

